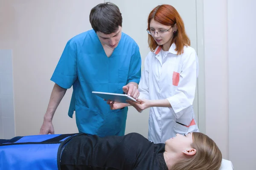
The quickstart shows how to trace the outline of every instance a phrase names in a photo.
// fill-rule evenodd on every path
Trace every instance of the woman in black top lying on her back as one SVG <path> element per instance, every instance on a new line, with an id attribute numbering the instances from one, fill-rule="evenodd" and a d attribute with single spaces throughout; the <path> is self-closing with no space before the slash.
<path id="1" fill-rule="evenodd" d="M 58 153 L 61 170 L 219 170 L 222 159 L 215 142 L 198 132 L 177 134 L 165 144 L 138 133 L 102 138 L 83 134 Z"/>

